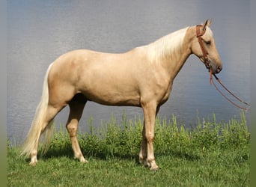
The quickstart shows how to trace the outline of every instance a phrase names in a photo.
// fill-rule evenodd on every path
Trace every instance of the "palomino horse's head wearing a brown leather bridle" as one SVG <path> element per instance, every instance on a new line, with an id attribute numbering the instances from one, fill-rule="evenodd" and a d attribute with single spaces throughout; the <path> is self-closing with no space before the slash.
<path id="1" fill-rule="evenodd" d="M 204 25 L 195 26 L 195 37 L 192 39 L 192 53 L 198 56 L 212 73 L 222 70 L 222 61 L 216 49 L 213 32 L 210 30 L 210 20 Z"/>

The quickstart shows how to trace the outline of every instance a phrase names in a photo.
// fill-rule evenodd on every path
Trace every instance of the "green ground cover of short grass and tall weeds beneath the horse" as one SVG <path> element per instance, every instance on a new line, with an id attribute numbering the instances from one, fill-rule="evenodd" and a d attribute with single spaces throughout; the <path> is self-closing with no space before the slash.
<path id="1" fill-rule="evenodd" d="M 60 127 L 61 128 L 61 127 Z M 118 124 L 115 117 L 90 132 L 79 132 L 87 164 L 73 159 L 64 129 L 54 134 L 49 151 L 36 167 L 7 147 L 8 186 L 249 186 L 249 140 L 246 117 L 216 123 L 198 119 L 192 129 L 156 119 L 155 156 L 160 170 L 138 163 L 142 120 Z"/>

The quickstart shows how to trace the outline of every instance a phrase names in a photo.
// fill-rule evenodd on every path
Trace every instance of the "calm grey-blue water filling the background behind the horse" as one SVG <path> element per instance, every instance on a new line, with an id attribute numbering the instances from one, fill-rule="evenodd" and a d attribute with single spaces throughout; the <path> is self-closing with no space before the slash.
<path id="1" fill-rule="evenodd" d="M 25 137 L 46 69 L 64 52 L 127 52 L 207 18 L 213 19 L 211 28 L 223 62 L 219 77 L 249 102 L 249 1 L 7 1 L 7 137 L 16 141 Z M 124 111 L 128 119 L 135 114 L 142 117 L 141 108 L 88 102 L 79 126 L 87 130 L 90 117 L 95 126 L 112 114 L 121 120 Z M 68 112 L 64 108 L 55 122 L 66 123 Z M 213 112 L 224 122 L 240 116 L 240 109 L 209 85 L 204 64 L 192 55 L 159 115 L 171 119 L 175 114 L 190 126 L 197 116 L 207 118 Z"/>

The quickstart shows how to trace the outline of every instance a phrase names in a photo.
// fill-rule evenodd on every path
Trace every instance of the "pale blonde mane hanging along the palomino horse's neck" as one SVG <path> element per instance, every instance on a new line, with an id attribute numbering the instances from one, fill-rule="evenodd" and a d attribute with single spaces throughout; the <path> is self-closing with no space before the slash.
<path id="1" fill-rule="evenodd" d="M 179 58 L 187 29 L 188 27 L 174 31 L 147 45 L 150 62 L 159 64 L 165 61 L 165 59 Z"/>

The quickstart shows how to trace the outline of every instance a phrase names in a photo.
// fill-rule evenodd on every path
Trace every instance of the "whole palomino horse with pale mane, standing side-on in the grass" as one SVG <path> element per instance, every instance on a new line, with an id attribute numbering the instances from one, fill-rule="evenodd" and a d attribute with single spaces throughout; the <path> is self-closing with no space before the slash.
<path id="1" fill-rule="evenodd" d="M 49 132 L 55 115 L 69 105 L 66 127 L 74 156 L 87 162 L 76 138 L 85 103 L 132 105 L 143 108 L 144 112 L 139 160 L 150 170 L 157 170 L 153 153 L 155 117 L 168 99 L 174 78 L 186 59 L 195 54 L 212 73 L 222 70 L 209 25 L 207 20 L 202 25 L 183 28 L 123 54 L 81 49 L 61 55 L 46 72 L 42 98 L 22 155 L 31 156 L 30 165 L 36 165 L 40 135 Z"/>

